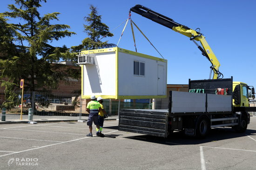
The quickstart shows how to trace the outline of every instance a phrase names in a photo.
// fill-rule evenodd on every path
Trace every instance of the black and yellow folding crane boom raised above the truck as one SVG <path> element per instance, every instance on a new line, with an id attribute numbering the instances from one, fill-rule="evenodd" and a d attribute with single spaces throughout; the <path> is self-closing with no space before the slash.
<path id="1" fill-rule="evenodd" d="M 212 64 L 210 68 L 214 72 L 213 79 L 218 79 L 223 77 L 222 73 L 219 72 L 219 67 L 220 67 L 219 61 L 216 58 L 213 51 L 211 50 L 209 44 L 205 40 L 205 37 L 203 36 L 203 34 L 200 33 L 200 31 L 195 31 L 189 28 L 188 26 L 179 24 L 175 22 L 173 19 L 170 19 L 160 13 L 156 13 L 155 11 L 152 11 L 151 9 L 145 6 L 141 6 L 137 4 L 133 6 L 130 9 L 130 11 L 138 13 L 147 19 L 151 19 L 152 21 L 158 24 L 166 26 L 172 29 L 173 31 L 179 32 L 182 35 L 189 37 L 190 40 L 192 40 L 197 45 L 198 49 L 202 51 L 202 55 L 205 56 Z M 202 44 L 202 47 L 199 44 L 197 44 L 195 41 L 200 41 L 200 43 Z"/>

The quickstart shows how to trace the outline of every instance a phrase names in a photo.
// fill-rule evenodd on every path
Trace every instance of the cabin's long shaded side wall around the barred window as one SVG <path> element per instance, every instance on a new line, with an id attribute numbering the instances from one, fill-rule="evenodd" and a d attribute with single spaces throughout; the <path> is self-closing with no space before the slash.
<path id="1" fill-rule="evenodd" d="M 145 76 L 134 75 L 134 61 L 145 63 Z M 123 52 L 118 53 L 118 94 L 123 96 L 166 95 L 167 63 L 139 57 Z M 162 88 L 158 94 L 158 65 L 162 65 Z"/>

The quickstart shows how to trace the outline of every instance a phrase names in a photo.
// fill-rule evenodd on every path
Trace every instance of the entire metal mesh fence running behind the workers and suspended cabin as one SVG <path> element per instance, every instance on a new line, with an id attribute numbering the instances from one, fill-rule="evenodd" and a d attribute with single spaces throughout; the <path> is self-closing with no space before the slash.
<path id="1" fill-rule="evenodd" d="M 51 119 L 53 116 L 71 117 L 73 119 L 83 119 L 87 116 L 87 103 L 90 100 L 82 99 L 81 94 L 64 93 L 42 93 L 24 92 L 22 115 L 27 118 L 28 109 L 32 108 L 34 116 Z M 118 115 L 119 109 L 167 109 L 167 99 L 126 99 L 126 100 L 103 100 L 103 106 L 109 116 Z M 21 113 L 21 90 L 14 92 L 14 98 L 5 95 L 0 91 L 0 108 L 6 107 L 7 120 L 20 120 Z M 42 117 L 44 116 L 44 117 Z"/>

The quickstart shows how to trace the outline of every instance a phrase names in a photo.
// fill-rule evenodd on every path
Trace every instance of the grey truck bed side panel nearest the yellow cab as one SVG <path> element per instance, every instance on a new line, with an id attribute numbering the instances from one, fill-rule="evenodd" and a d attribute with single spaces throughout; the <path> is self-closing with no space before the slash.
<path id="1" fill-rule="evenodd" d="M 207 94 L 207 112 L 232 111 L 231 95 Z"/>

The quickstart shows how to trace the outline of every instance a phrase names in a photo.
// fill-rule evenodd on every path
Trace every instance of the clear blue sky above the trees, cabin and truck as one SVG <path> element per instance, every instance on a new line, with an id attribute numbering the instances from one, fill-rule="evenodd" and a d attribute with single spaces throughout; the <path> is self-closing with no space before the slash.
<path id="1" fill-rule="evenodd" d="M 1 0 L 0 13 L 14 0 Z M 200 28 L 221 66 L 224 78 L 256 86 L 256 1 L 255 0 L 47 0 L 41 3 L 40 14 L 59 12 L 59 24 L 71 26 L 76 35 L 52 42 L 67 47 L 81 44 L 87 37 L 83 32 L 83 17 L 90 13 L 89 4 L 97 7 L 102 22 L 110 30 L 128 19 L 129 9 L 135 4 L 147 6 L 176 22 L 192 29 Z M 136 13 L 133 21 L 168 60 L 168 84 L 188 84 L 192 80 L 208 79 L 209 61 L 201 55 L 195 44 L 175 31 L 159 25 Z M 105 38 L 117 44 L 124 25 Z M 140 53 L 161 57 L 148 41 L 135 30 L 137 50 Z M 103 39 L 104 40 L 104 39 Z M 134 50 L 130 25 L 127 26 L 119 47 Z"/>

